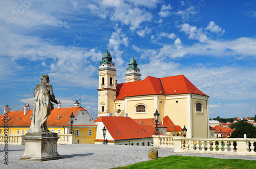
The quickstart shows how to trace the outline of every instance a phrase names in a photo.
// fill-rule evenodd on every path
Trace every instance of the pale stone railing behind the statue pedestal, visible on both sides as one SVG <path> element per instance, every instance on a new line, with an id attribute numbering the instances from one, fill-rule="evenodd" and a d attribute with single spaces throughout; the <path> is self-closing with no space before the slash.
<path id="1" fill-rule="evenodd" d="M 75 135 L 74 134 L 58 134 L 60 137 L 58 139 L 58 144 L 74 144 Z M 4 134 L 0 134 L 0 144 L 16 144 L 25 145 L 24 135 L 19 134 L 8 134 L 7 137 Z"/>

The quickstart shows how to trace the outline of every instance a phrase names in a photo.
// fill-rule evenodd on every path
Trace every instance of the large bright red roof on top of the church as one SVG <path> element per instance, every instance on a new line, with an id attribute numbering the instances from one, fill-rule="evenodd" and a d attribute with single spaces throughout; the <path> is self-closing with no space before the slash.
<path id="1" fill-rule="evenodd" d="M 194 86 L 184 75 L 165 78 L 148 76 L 141 81 L 117 84 L 116 88 L 118 91 L 116 100 L 121 100 L 128 96 L 152 94 L 171 95 L 193 93 L 207 96 Z"/>

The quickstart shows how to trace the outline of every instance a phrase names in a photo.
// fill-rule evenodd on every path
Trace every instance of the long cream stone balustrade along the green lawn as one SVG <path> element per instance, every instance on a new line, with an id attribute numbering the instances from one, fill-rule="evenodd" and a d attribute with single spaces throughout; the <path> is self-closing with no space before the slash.
<path id="1" fill-rule="evenodd" d="M 154 147 L 171 148 L 177 153 L 256 156 L 256 138 L 184 138 L 154 135 L 153 139 Z"/>

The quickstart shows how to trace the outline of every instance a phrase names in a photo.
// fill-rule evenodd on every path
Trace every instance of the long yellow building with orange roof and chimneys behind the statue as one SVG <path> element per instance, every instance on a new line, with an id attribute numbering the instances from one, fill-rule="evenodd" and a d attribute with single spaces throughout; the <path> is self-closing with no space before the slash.
<path id="1" fill-rule="evenodd" d="M 48 129 L 58 134 L 69 134 L 71 129 L 70 115 L 72 112 L 75 116 L 73 123 L 74 142 L 79 140 L 79 143 L 94 144 L 97 126 L 88 111 L 80 107 L 77 101 L 74 103 L 74 107 L 62 108 L 59 103 L 58 108 L 53 109 L 48 117 Z M 0 119 L 2 119 L 0 121 L 0 136 L 5 134 L 5 129 L 7 129 L 9 135 L 26 134 L 31 124 L 31 114 L 32 110 L 27 104 L 22 111 L 11 111 L 11 108 L 6 106 L 4 114 L 0 116 Z"/>

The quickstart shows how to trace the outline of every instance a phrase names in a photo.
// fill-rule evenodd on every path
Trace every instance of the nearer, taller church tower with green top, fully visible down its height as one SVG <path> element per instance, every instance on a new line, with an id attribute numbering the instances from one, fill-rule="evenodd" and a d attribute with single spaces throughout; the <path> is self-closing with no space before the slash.
<path id="1" fill-rule="evenodd" d="M 116 99 L 116 69 L 108 49 L 104 53 L 98 71 L 98 117 L 112 116 Z"/>

